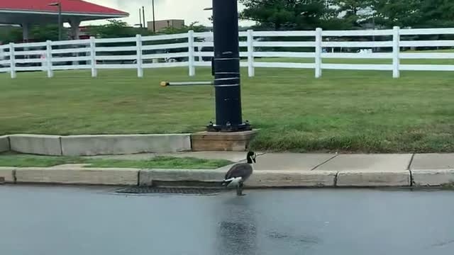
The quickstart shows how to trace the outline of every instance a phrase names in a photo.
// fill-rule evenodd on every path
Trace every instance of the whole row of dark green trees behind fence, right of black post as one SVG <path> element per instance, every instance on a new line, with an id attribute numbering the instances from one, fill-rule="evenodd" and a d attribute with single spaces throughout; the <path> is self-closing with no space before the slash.
<path id="1" fill-rule="evenodd" d="M 454 26 L 452 0 L 240 0 L 240 17 L 272 30 Z"/>

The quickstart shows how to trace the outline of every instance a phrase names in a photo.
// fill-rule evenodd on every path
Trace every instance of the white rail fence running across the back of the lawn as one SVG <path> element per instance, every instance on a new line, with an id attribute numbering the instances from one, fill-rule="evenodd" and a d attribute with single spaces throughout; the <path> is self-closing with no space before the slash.
<path id="1" fill-rule="evenodd" d="M 248 68 L 249 77 L 255 75 L 256 67 L 314 69 L 317 78 L 321 77 L 323 69 L 392 71 L 394 78 L 398 78 L 402 70 L 454 71 L 454 65 L 450 64 L 400 64 L 402 59 L 454 59 L 454 53 L 449 52 L 402 52 L 403 48 L 409 47 L 454 47 L 454 40 L 413 40 L 412 35 L 454 35 L 454 28 L 248 30 L 240 32 L 240 57 L 244 60 L 240 64 Z M 0 45 L 0 72 L 9 72 L 11 78 L 15 78 L 21 71 L 43 71 L 52 77 L 55 70 L 91 69 L 92 77 L 96 77 L 98 69 L 137 69 L 138 77 L 143 77 L 145 68 L 187 67 L 189 76 L 194 76 L 196 67 L 211 67 L 210 59 L 214 55 L 212 37 L 211 32 L 189 31 L 176 35 L 137 35 L 135 38 L 11 43 Z M 362 50 L 357 52 L 358 49 Z M 267 62 L 258 61 L 258 58 L 271 57 Z M 275 57 L 313 61 L 272 62 Z M 388 59 L 392 64 L 323 63 L 331 58 Z"/>

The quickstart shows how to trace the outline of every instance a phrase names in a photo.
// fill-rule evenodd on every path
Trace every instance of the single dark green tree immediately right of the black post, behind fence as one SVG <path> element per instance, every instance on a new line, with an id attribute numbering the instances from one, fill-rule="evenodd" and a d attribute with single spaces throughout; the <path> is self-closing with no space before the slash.
<path id="1" fill-rule="evenodd" d="M 274 30 L 323 28 L 326 0 L 240 0 L 245 9 L 240 18 L 257 21 Z"/>

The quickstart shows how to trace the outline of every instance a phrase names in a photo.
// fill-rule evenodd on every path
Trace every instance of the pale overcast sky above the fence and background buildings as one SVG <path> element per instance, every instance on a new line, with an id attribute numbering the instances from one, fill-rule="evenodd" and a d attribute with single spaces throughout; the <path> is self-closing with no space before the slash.
<path id="1" fill-rule="evenodd" d="M 138 10 L 145 6 L 145 20 L 152 21 L 151 2 L 152 0 L 86 0 L 94 4 L 116 8 L 121 11 L 126 11 L 130 14 L 129 18 L 123 20 L 131 25 L 139 23 Z M 184 19 L 189 25 L 194 21 L 210 26 L 211 22 L 208 18 L 211 16 L 211 11 L 203 11 L 203 8 L 211 7 L 212 0 L 155 0 L 155 16 L 156 20 L 163 19 Z M 241 8 L 241 6 L 240 6 Z M 86 22 L 84 25 L 97 24 L 99 22 Z M 101 22 L 102 23 L 102 22 Z M 241 22 L 242 25 L 250 23 Z"/>

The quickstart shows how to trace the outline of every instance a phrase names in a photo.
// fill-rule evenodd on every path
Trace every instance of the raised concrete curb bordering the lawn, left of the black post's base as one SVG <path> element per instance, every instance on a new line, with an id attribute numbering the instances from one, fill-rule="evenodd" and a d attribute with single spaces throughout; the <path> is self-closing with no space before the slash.
<path id="1" fill-rule="evenodd" d="M 48 156 L 172 153 L 190 151 L 190 134 L 165 135 L 7 135 L 0 152 Z"/>

